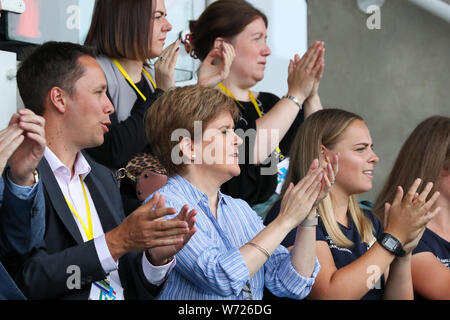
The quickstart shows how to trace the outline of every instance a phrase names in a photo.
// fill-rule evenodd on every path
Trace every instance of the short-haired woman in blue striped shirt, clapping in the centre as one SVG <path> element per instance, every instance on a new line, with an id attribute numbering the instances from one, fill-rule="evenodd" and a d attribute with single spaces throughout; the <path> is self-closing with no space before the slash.
<path id="1" fill-rule="evenodd" d="M 146 115 L 147 138 L 169 173 L 158 192 L 167 206 L 181 210 L 187 203 L 197 211 L 196 233 L 177 254 L 160 299 L 262 299 L 264 286 L 303 299 L 320 270 L 313 206 L 328 192 L 332 167 L 325 173 L 314 160 L 308 175 L 289 186 L 278 218 L 264 227 L 245 201 L 220 192 L 240 173 L 237 115 L 231 98 L 196 86 L 166 92 Z M 296 227 L 289 252 L 280 242 Z"/>

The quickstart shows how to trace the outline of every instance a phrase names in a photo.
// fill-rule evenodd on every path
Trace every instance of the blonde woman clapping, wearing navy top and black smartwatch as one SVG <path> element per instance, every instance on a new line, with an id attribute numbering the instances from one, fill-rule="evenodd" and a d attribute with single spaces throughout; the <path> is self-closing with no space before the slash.
<path id="1" fill-rule="evenodd" d="M 430 209 L 439 194 L 425 201 L 432 188 L 429 183 L 416 195 L 420 180 L 405 195 L 398 187 L 392 206 L 386 205 L 383 231 L 380 221 L 372 212 L 361 210 L 356 198 L 372 188 L 379 161 L 369 129 L 358 115 L 338 109 L 318 111 L 300 127 L 286 181 L 295 183 L 303 178 L 309 159 L 320 158 L 323 167 L 336 154 L 339 172 L 319 205 L 316 250 L 322 270 L 309 297 L 412 299 L 411 251 L 437 213 Z"/>

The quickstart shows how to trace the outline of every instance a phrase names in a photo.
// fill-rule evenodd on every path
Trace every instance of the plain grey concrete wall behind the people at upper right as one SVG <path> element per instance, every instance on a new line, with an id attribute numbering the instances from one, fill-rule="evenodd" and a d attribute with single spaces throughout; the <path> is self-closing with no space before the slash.
<path id="1" fill-rule="evenodd" d="M 308 9 L 310 39 L 326 47 L 322 104 L 361 115 L 380 158 L 360 196 L 374 201 L 413 128 L 450 116 L 450 23 L 408 0 L 385 1 L 379 30 L 356 0 L 309 0 Z"/>

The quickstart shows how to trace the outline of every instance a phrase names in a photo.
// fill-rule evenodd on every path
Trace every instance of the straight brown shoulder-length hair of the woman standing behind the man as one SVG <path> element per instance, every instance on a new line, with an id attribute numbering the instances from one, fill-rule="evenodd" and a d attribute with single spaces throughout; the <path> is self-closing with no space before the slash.
<path id="1" fill-rule="evenodd" d="M 97 55 L 149 59 L 154 1 L 97 0 L 84 44 Z"/>

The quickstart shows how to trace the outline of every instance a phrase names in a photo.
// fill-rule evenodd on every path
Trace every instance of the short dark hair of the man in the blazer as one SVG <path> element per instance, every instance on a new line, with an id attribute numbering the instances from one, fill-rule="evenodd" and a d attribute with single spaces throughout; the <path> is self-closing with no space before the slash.
<path id="1" fill-rule="evenodd" d="M 48 92 L 60 87 L 73 94 L 75 82 L 84 74 L 81 56 L 94 57 L 91 49 L 70 42 L 46 42 L 29 53 L 17 71 L 17 86 L 26 108 L 44 114 Z"/>

